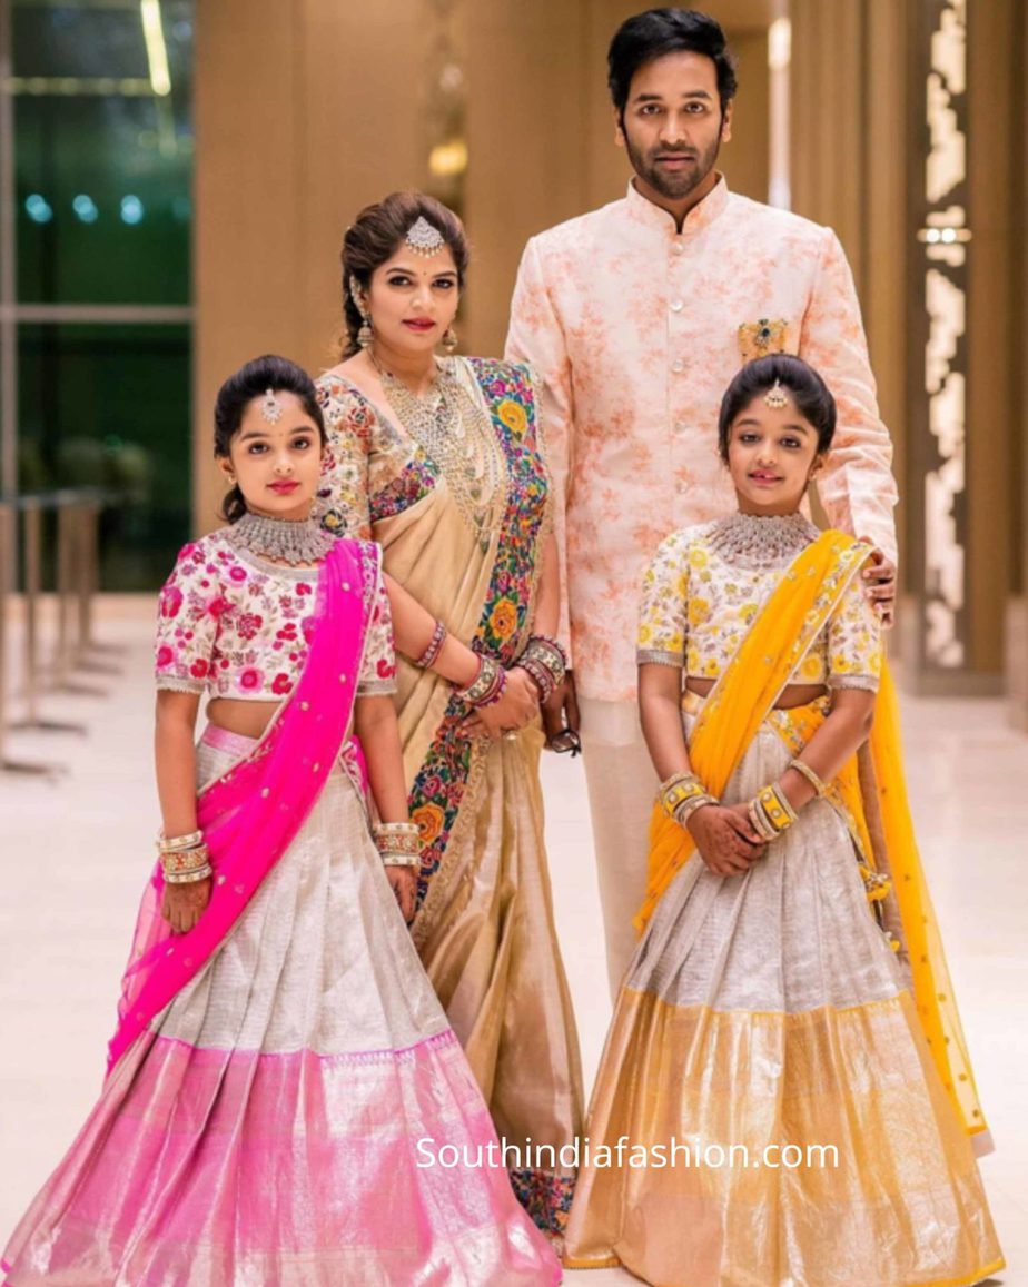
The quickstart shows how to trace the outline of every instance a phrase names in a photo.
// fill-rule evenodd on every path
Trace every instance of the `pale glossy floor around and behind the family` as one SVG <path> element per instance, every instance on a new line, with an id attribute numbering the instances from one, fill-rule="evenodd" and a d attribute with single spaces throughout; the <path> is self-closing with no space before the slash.
<path id="1" fill-rule="evenodd" d="M 109 597 L 98 636 L 116 673 L 100 695 L 53 695 L 44 713 L 80 734 L 19 732 L 8 758 L 53 761 L 58 779 L 0 775 L 0 1238 L 90 1108 L 157 806 L 151 773 L 152 606 Z M 17 686 L 17 676 L 12 687 Z M 15 710 L 17 714 L 17 710 Z M 1010 1269 L 1028 1287 L 1028 737 L 1002 704 L 904 701 L 921 851 L 947 942 L 997 1152 L 982 1163 Z M 579 762 L 546 757 L 557 921 L 592 1081 L 610 1015 Z M 583 1287 L 636 1282 L 569 1274 Z"/>

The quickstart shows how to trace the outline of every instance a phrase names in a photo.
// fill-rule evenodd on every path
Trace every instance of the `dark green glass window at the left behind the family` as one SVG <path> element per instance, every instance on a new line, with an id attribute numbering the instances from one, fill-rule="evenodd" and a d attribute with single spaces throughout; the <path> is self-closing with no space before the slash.
<path id="1" fill-rule="evenodd" d="M 0 5 L 12 67 L 0 152 L 13 142 L 14 189 L 0 256 L 15 250 L 3 300 L 17 386 L 8 458 L 13 441 L 22 492 L 89 485 L 115 498 L 102 587 L 152 589 L 190 526 L 194 4 Z"/>

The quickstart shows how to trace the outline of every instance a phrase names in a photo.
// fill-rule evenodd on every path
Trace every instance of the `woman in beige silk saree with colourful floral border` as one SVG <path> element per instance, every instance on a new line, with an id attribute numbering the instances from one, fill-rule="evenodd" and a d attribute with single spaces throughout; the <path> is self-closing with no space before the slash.
<path id="1" fill-rule="evenodd" d="M 318 381 L 322 503 L 329 529 L 374 537 L 389 574 L 414 942 L 515 1190 L 558 1237 L 582 1090 L 539 790 L 538 707 L 564 678 L 557 560 L 529 372 L 435 353 L 455 342 L 466 268 L 459 220 L 430 197 L 394 193 L 347 228 L 345 355 Z"/>

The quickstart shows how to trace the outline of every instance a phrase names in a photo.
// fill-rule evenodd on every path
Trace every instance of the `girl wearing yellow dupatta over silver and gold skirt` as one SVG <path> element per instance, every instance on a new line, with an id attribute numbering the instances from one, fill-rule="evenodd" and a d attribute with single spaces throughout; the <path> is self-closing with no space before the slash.
<path id="1" fill-rule="evenodd" d="M 799 512 L 834 431 L 805 363 L 745 367 L 719 425 L 739 512 L 674 533 L 646 573 L 639 704 L 663 782 L 573 1268 L 968 1287 L 1002 1266 L 857 575 L 871 550 Z"/>

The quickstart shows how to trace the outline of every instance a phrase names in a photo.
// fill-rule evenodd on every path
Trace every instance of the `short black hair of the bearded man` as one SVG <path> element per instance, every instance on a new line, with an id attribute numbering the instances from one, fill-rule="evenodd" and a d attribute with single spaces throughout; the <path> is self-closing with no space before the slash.
<path id="1" fill-rule="evenodd" d="M 607 85 L 618 116 L 624 117 L 632 77 L 639 67 L 683 49 L 714 63 L 724 115 L 737 82 L 735 58 L 728 51 L 721 23 L 697 9 L 647 9 L 621 23 L 607 51 Z"/>

